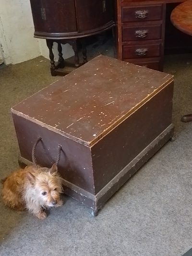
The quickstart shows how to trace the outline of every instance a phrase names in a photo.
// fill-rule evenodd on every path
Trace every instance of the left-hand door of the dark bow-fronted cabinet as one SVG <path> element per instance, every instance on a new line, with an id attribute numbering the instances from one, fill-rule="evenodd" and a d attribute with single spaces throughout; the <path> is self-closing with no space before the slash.
<path id="1" fill-rule="evenodd" d="M 35 31 L 77 31 L 74 0 L 30 0 Z"/>

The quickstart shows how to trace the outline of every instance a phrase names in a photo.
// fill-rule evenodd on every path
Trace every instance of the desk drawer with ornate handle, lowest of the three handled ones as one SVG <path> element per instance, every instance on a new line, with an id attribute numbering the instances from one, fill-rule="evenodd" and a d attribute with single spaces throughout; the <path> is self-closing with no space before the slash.
<path id="1" fill-rule="evenodd" d="M 161 43 L 122 47 L 122 59 L 151 58 L 161 55 Z"/>

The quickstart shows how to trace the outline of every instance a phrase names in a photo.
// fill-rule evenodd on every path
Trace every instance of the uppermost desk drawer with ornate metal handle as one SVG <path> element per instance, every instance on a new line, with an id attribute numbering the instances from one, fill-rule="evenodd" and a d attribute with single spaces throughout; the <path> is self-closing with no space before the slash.
<path id="1" fill-rule="evenodd" d="M 122 22 L 142 22 L 162 19 L 162 4 L 122 7 Z"/>

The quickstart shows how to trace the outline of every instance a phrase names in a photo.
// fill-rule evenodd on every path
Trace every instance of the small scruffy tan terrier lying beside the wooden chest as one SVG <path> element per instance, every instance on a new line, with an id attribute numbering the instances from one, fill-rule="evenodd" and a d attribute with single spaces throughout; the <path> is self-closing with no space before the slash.
<path id="1" fill-rule="evenodd" d="M 2 183 L 4 204 L 17 210 L 28 209 L 38 219 L 47 217 L 44 209 L 62 205 L 61 178 L 56 164 L 50 169 L 27 166 L 12 172 Z"/>

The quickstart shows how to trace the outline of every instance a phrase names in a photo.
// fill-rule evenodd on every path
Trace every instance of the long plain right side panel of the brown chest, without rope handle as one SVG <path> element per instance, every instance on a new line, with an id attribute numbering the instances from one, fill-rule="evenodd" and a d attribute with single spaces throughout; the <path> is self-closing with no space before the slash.
<path id="1" fill-rule="evenodd" d="M 172 123 L 173 83 L 92 146 L 98 193 Z"/>

